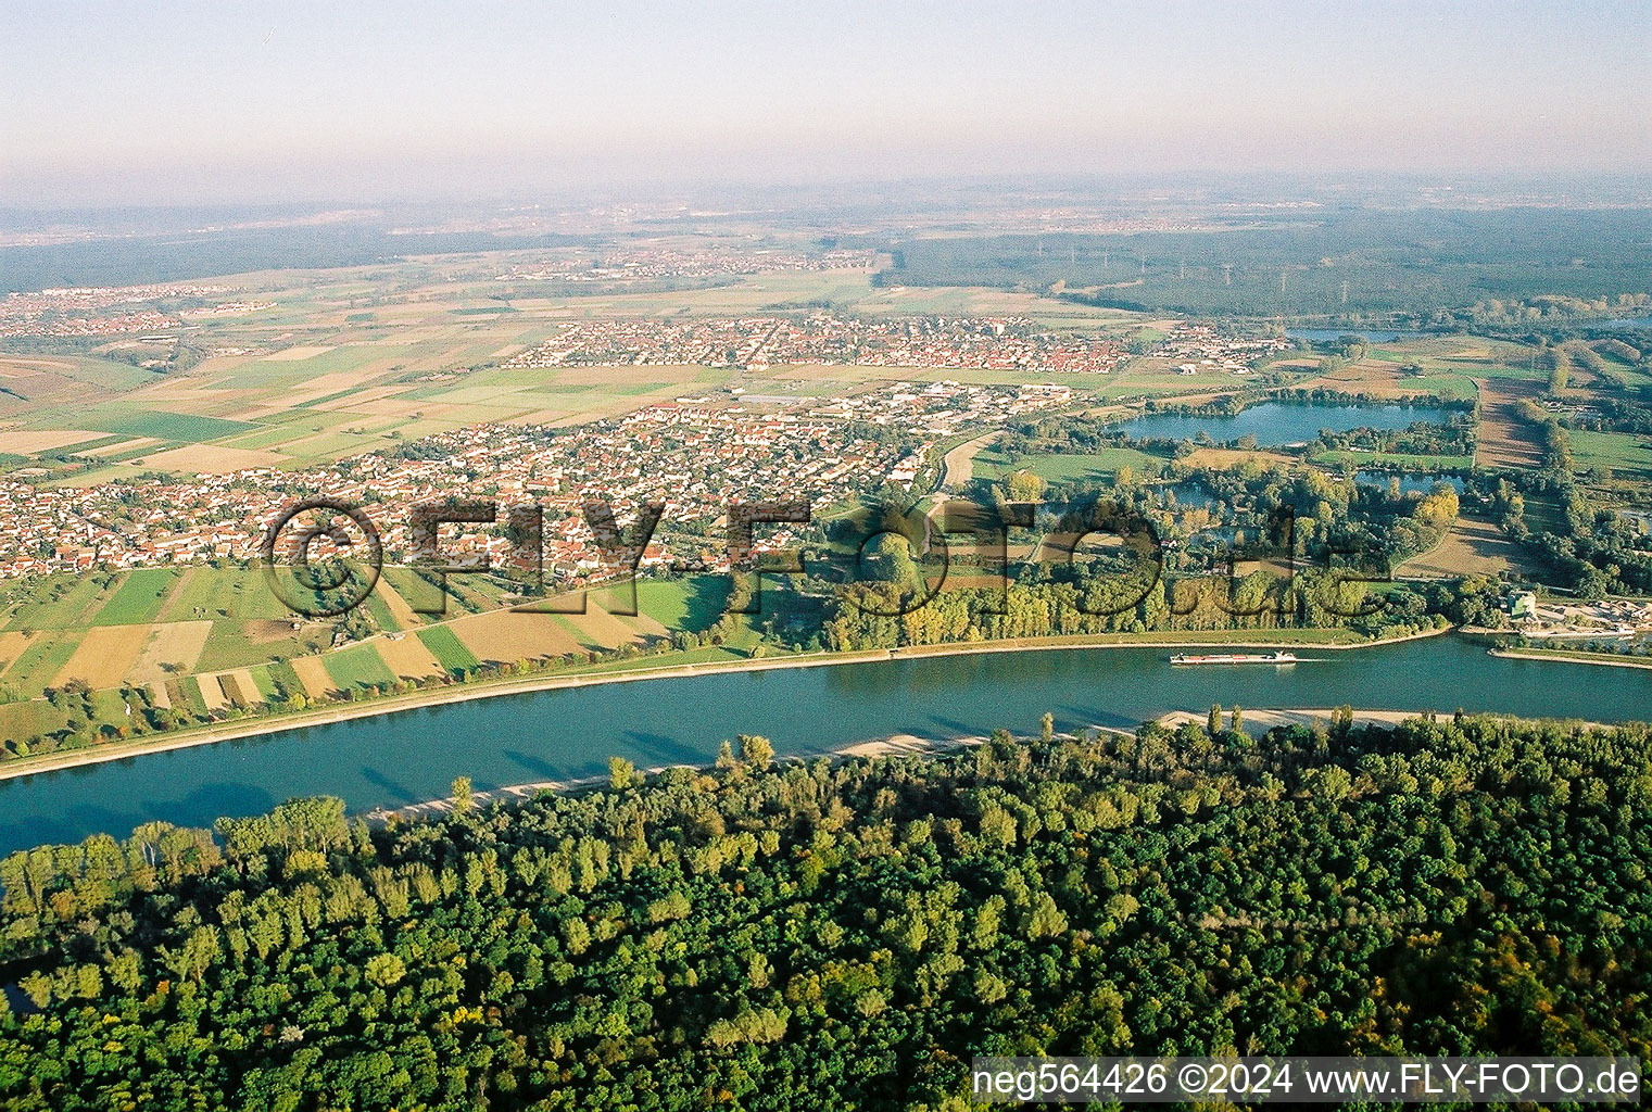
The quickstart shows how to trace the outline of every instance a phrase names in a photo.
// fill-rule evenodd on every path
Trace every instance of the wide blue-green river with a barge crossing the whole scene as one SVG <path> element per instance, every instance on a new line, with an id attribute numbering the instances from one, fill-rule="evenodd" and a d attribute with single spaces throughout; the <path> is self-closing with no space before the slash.
<path id="1" fill-rule="evenodd" d="M 1199 649 L 1209 651 L 1209 649 Z M 1295 666 L 1171 668 L 1166 649 L 1057 649 L 563 687 L 129 757 L 0 782 L 0 853 L 149 820 L 206 824 L 297 795 L 352 811 L 477 788 L 639 767 L 709 763 L 733 734 L 781 753 L 890 734 L 1135 725 L 1213 702 L 1247 707 L 1505 710 L 1601 722 L 1652 717 L 1652 671 L 1488 656 L 1444 636 L 1353 653 L 1297 649 Z"/>

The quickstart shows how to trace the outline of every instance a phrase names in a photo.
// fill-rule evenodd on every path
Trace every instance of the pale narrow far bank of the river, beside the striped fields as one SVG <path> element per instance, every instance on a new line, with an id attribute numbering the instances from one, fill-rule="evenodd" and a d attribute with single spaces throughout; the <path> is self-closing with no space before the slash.
<path id="1" fill-rule="evenodd" d="M 1290 636 L 1290 634 L 1298 636 Z M 613 671 L 590 671 L 555 676 L 527 676 L 510 679 L 492 679 L 471 684 L 453 684 L 446 687 L 430 687 L 405 696 L 383 696 L 378 699 L 352 704 L 337 704 L 322 709 L 296 710 L 287 714 L 256 715 L 235 722 L 218 722 L 206 727 L 193 727 L 162 735 L 145 735 L 126 742 L 107 742 L 94 748 L 78 748 L 71 752 L 46 753 L 43 757 L 20 757 L 0 765 L 0 782 L 31 777 L 45 772 L 61 772 L 66 768 L 84 768 L 112 760 L 127 760 L 149 753 L 165 753 L 197 745 L 216 745 L 221 742 L 263 737 L 268 734 L 284 734 L 289 730 L 312 729 L 319 725 L 335 725 L 358 719 L 393 715 L 406 710 L 441 707 L 476 699 L 494 699 L 501 696 L 520 696 L 539 691 L 557 691 L 567 687 L 590 687 L 598 684 L 639 682 L 648 679 L 687 679 L 692 676 L 719 676 L 729 672 L 762 672 L 791 668 L 829 668 L 841 664 L 869 664 L 879 661 L 923 659 L 937 656 L 978 656 L 990 653 L 1042 653 L 1052 649 L 1178 649 L 1178 648 L 1260 648 L 1292 649 L 1313 648 L 1325 651 L 1368 649 L 1386 644 L 1401 644 L 1424 638 L 1450 633 L 1450 626 L 1439 630 L 1422 630 L 1398 638 L 1378 638 L 1373 641 L 1350 639 L 1351 634 L 1341 630 L 1211 630 L 1186 633 L 1181 636 L 1166 634 L 1130 634 L 1104 633 L 1094 636 L 1072 638 L 1021 638 L 1014 641 L 958 641 L 948 644 L 905 646 L 895 649 L 869 649 L 857 653 L 803 653 L 796 656 L 770 656 L 743 661 L 717 661 L 709 664 L 661 664 L 656 668 L 616 668 Z M 1343 639 L 1332 639 L 1335 636 Z"/>

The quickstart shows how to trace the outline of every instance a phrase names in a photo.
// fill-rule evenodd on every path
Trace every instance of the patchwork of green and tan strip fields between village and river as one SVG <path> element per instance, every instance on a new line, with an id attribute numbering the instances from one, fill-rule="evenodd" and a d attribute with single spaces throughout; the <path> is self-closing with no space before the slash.
<path id="1" fill-rule="evenodd" d="M 66 686 L 84 684 L 88 706 L 116 709 L 94 720 L 97 729 L 126 719 L 121 692 L 134 687 L 150 706 L 195 715 L 254 710 L 292 696 L 316 701 L 468 674 L 487 663 L 585 663 L 643 649 L 674 630 L 710 626 L 729 593 L 724 577 L 641 580 L 636 615 L 624 613 L 633 605 L 629 585 L 591 590 L 585 613 L 534 613 L 534 605 L 506 608 L 507 588 L 492 578 L 451 575 L 449 613 L 415 615 L 403 592 L 421 588 L 433 590 L 408 568 L 387 568 L 363 605 L 377 633 L 330 648 L 332 626 L 287 613 L 256 568 L 197 565 L 43 580 L 0 610 L 0 742 L 73 725 L 46 697 Z M 575 598 L 558 605 L 572 608 Z M 738 658 L 757 639 L 742 621 L 737 636 L 705 659 Z"/>

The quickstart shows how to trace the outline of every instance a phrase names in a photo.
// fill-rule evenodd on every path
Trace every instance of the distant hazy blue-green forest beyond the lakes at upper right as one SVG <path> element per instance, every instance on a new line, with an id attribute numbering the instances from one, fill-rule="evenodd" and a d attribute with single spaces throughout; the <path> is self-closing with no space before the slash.
<path id="1" fill-rule="evenodd" d="M 1406 314 L 1455 324 L 1490 301 L 1579 299 L 1611 311 L 1649 291 L 1652 211 L 1327 208 L 1256 226 L 1133 235 L 904 240 L 879 276 L 904 286 L 1064 283 L 1069 297 L 1148 312 Z"/>

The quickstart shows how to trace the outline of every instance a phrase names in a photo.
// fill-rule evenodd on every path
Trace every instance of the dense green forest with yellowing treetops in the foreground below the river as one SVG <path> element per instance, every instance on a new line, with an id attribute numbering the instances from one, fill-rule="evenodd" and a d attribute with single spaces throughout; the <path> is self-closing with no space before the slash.
<path id="1" fill-rule="evenodd" d="M 1046 719 L 1047 722 L 1047 719 Z M 971 1054 L 1652 1057 L 1652 732 L 1170 732 L 0 866 L 8 1109 L 961 1109 Z"/>

